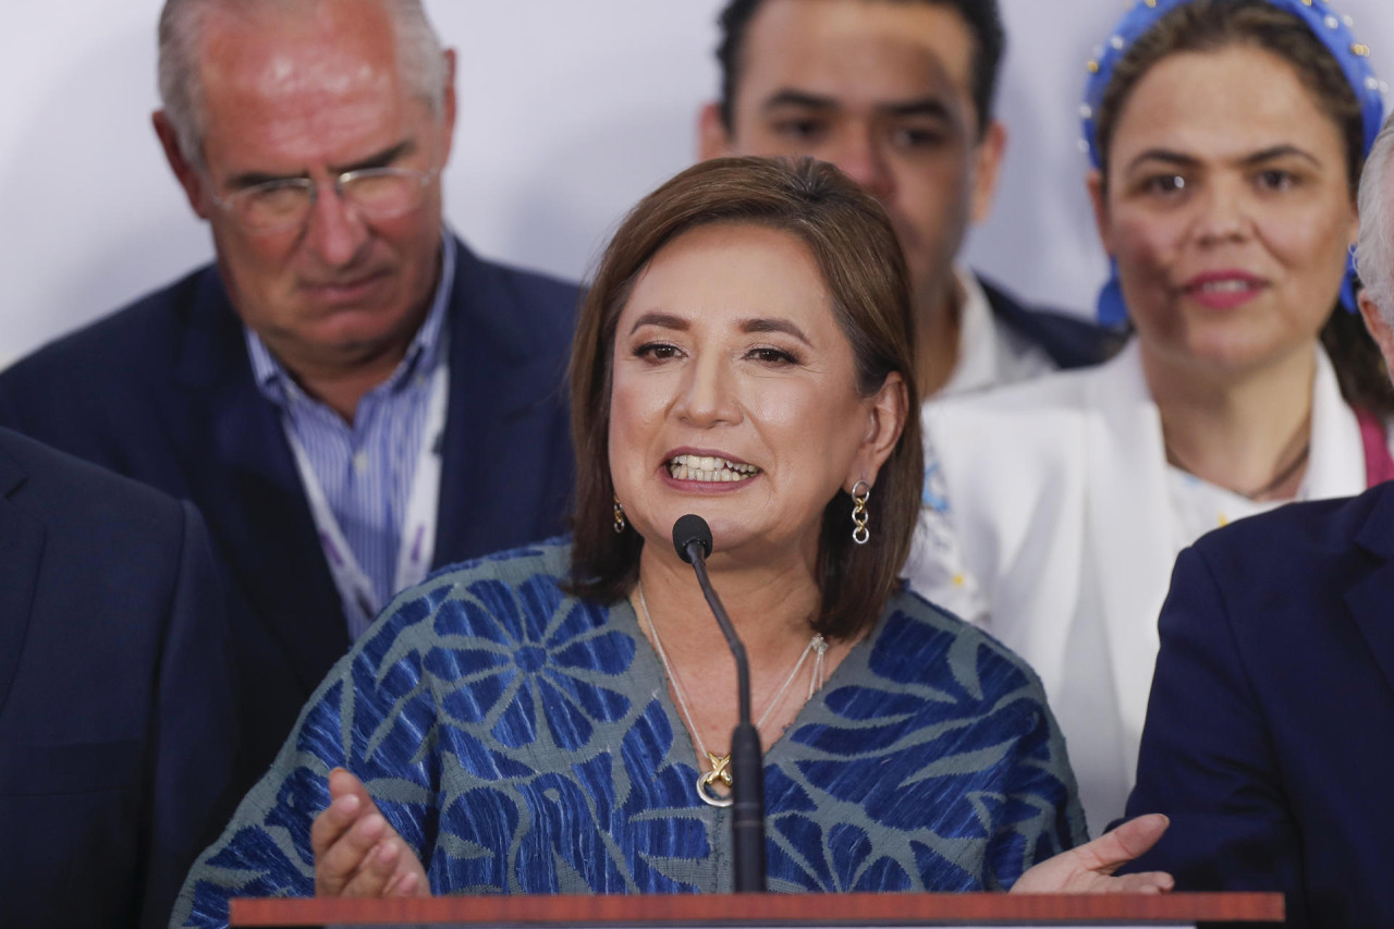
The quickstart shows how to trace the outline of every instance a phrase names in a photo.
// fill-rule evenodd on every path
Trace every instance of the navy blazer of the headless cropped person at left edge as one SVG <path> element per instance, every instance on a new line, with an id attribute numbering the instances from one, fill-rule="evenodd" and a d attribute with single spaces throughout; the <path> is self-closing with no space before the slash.
<path id="1" fill-rule="evenodd" d="M 194 508 L 0 430 L 0 922 L 166 925 L 234 723 Z"/>

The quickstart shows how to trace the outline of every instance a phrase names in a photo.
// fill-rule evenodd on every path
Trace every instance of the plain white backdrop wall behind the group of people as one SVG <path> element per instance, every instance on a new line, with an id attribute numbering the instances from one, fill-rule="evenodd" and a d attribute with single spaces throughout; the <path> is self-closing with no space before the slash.
<path id="1" fill-rule="evenodd" d="M 1104 262 L 1078 148 L 1083 63 L 1119 0 L 1002 0 L 1011 144 L 969 259 L 1085 311 Z M 581 278 L 690 163 L 719 0 L 427 0 L 460 52 L 446 215 L 480 252 Z M 1394 4 L 1338 0 L 1394 74 Z M 11 3 L 0 35 L 0 367 L 206 261 L 149 127 L 159 0 Z M 1223 92 L 1217 91 L 1217 92 Z"/>

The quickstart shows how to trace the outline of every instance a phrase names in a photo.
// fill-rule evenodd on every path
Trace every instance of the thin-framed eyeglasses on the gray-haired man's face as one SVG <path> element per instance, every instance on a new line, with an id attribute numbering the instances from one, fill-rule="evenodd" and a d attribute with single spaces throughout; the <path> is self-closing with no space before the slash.
<path id="1" fill-rule="evenodd" d="M 389 219 L 421 205 L 425 190 L 441 169 L 362 167 L 333 179 L 333 191 L 364 216 Z M 238 225 L 254 233 L 272 233 L 304 226 L 319 201 L 319 181 L 284 177 L 252 184 L 227 197 L 213 194 L 213 202 Z"/>

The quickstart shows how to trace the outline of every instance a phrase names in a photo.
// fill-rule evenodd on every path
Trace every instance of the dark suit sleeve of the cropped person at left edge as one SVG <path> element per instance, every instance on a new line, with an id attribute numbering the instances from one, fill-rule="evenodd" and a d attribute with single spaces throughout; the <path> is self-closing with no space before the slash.
<path id="1" fill-rule="evenodd" d="M 227 792 L 237 743 L 227 619 L 204 520 L 187 502 L 183 511 L 152 720 L 142 926 L 169 923 L 185 872 L 236 801 Z"/>

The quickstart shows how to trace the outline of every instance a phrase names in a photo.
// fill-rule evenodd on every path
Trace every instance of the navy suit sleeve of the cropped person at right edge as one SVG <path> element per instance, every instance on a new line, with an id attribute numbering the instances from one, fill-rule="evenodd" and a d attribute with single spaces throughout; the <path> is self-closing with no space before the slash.
<path id="1" fill-rule="evenodd" d="M 1302 858 L 1278 778 L 1270 721 L 1255 696 L 1235 624 L 1253 597 L 1227 597 L 1204 554 L 1177 561 L 1161 611 L 1128 815 L 1165 813 L 1171 827 L 1129 870 L 1171 872 L 1178 890 L 1280 890 L 1301 919 Z M 1298 921 L 1289 925 L 1299 925 Z"/>

